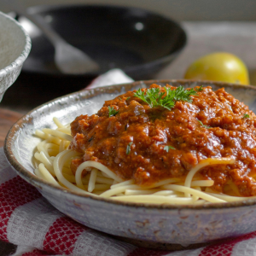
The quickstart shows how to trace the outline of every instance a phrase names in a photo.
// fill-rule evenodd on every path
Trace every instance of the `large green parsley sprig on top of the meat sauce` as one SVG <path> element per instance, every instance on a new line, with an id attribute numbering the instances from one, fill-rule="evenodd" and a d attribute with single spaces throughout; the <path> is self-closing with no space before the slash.
<path id="1" fill-rule="evenodd" d="M 175 102 L 192 102 L 190 96 L 197 95 L 197 92 L 203 89 L 201 86 L 195 90 L 185 90 L 183 86 L 178 86 L 177 89 L 172 90 L 171 88 L 165 86 L 164 90 L 166 90 L 166 92 L 160 91 L 160 88 L 151 88 L 146 92 L 139 89 L 134 93 L 134 96 L 137 96 L 143 100 L 143 102 L 148 103 L 151 108 L 163 107 L 171 110 L 171 108 L 174 107 Z"/>

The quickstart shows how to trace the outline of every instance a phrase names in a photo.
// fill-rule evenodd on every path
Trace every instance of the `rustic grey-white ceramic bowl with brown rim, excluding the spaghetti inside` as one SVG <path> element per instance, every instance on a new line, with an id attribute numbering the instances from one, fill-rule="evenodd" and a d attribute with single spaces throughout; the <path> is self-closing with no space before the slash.
<path id="1" fill-rule="evenodd" d="M 35 186 L 61 212 L 81 224 L 115 236 L 188 245 L 240 236 L 256 230 L 255 199 L 202 206 L 143 205 L 81 195 L 57 188 L 33 174 L 32 154 L 39 141 L 33 136 L 36 129 L 53 127 L 53 117 L 67 123 L 81 113 L 96 113 L 105 100 L 128 90 L 148 87 L 152 83 L 181 84 L 186 88 L 202 84 L 212 86 L 213 90 L 225 87 L 256 112 L 256 87 L 238 84 L 152 80 L 84 90 L 48 102 L 20 119 L 11 128 L 5 141 L 4 150 L 9 163 L 20 177 Z"/>

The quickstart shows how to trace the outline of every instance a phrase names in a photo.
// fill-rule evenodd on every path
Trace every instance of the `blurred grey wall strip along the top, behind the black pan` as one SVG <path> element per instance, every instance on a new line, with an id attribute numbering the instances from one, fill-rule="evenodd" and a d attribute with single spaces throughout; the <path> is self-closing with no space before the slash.
<path id="1" fill-rule="evenodd" d="M 256 20 L 256 0 L 18 0 L 25 6 L 114 4 L 148 9 L 175 20 Z M 7 0 L 8 2 L 8 0 Z M 11 9 L 0 0 L 0 10 Z"/>

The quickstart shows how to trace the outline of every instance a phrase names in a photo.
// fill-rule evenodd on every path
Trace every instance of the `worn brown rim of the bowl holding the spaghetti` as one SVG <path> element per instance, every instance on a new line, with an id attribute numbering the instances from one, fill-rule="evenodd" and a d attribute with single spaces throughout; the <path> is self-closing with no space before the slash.
<path id="1" fill-rule="evenodd" d="M 63 98 L 68 98 L 69 96 L 78 96 L 79 94 L 83 94 L 84 91 L 90 93 L 91 91 L 95 92 L 101 92 L 104 93 L 108 90 L 113 90 L 115 88 L 122 88 L 125 85 L 132 85 L 132 86 L 137 86 L 139 84 L 168 84 L 168 83 L 178 83 L 178 84 L 184 84 L 184 83 L 190 83 L 190 84 L 197 84 L 200 86 L 201 84 L 207 83 L 208 86 L 211 86 L 211 84 L 216 84 L 219 87 L 235 87 L 237 89 L 242 88 L 242 89 L 252 89 L 256 91 L 256 87 L 252 85 L 242 85 L 242 84 L 230 84 L 230 83 L 223 83 L 223 82 L 215 82 L 215 81 L 209 81 L 209 80 L 193 80 L 193 79 L 163 79 L 163 80 L 143 80 L 143 81 L 137 81 L 137 82 L 131 82 L 127 84 L 116 84 L 116 85 L 109 85 L 105 87 L 97 87 L 93 89 L 87 89 L 87 90 L 80 90 L 77 92 L 73 92 L 71 94 L 67 94 L 66 96 L 60 96 L 58 98 L 55 98 L 54 100 L 51 100 L 49 102 L 45 102 L 44 104 L 38 106 L 37 108 L 33 108 L 30 112 L 26 113 L 23 117 L 21 117 L 15 125 L 13 125 L 6 138 L 4 141 L 4 154 L 9 161 L 9 164 L 15 169 L 15 172 L 18 173 L 20 177 L 26 180 L 26 182 L 32 184 L 38 189 L 42 189 L 44 187 L 45 190 L 48 190 L 49 193 L 68 193 L 73 195 L 75 198 L 80 198 L 83 199 L 85 198 L 86 200 L 93 200 L 93 201 L 102 201 L 102 202 L 107 202 L 112 204 L 113 206 L 124 206 L 124 207 L 134 207 L 134 208 L 146 208 L 146 209 L 155 209 L 155 210 L 174 210 L 174 211 L 179 211 L 181 209 L 189 209 L 189 210 L 201 210 L 201 209 L 208 209 L 208 210 L 213 210 L 213 209 L 227 209 L 227 208 L 234 208 L 234 207 L 250 207 L 253 205 L 256 205 L 256 198 L 248 198 L 244 201 L 231 201 L 231 202 L 226 202 L 226 203 L 208 203 L 208 204 L 203 204 L 203 205 L 156 205 L 156 204 L 150 204 L 150 203 L 136 203 L 136 202 L 127 202 L 127 201 L 113 201 L 108 198 L 102 198 L 98 197 L 95 195 L 84 195 L 79 192 L 72 191 L 70 189 L 64 189 L 60 188 L 52 183 L 48 183 L 41 179 L 40 177 L 35 176 L 32 174 L 32 172 L 29 172 L 26 170 L 25 167 L 20 165 L 20 162 L 15 158 L 15 154 L 13 153 L 12 150 L 12 141 L 13 138 L 15 137 L 16 133 L 20 131 L 23 127 L 24 122 L 30 122 L 32 119 L 31 114 L 33 112 L 38 111 L 40 108 L 44 108 L 46 105 L 50 105 L 58 100 L 61 100 Z"/>

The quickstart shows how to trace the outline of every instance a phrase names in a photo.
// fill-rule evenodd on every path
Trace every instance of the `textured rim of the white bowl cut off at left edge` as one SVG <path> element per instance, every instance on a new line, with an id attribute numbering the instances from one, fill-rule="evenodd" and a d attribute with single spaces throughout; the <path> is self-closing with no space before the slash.
<path id="1" fill-rule="evenodd" d="M 9 66 L 3 67 L 2 69 L 0 69 L 0 78 L 1 78 L 3 76 L 6 76 L 8 73 L 12 73 L 15 69 L 17 69 L 17 67 L 20 67 L 23 64 L 23 62 L 26 60 L 27 56 L 30 53 L 32 43 L 31 43 L 31 38 L 29 37 L 28 33 L 23 28 L 23 26 L 20 25 L 20 23 L 17 20 L 13 19 L 9 15 L 4 14 L 1 11 L 0 11 L 0 15 L 3 16 L 4 18 L 6 18 L 6 20 L 9 20 L 10 22 L 15 23 L 16 26 L 19 26 L 21 32 L 23 32 L 23 34 L 25 36 L 24 49 L 22 50 L 21 54 L 15 59 L 15 61 L 13 61 L 11 64 L 9 64 Z"/>

